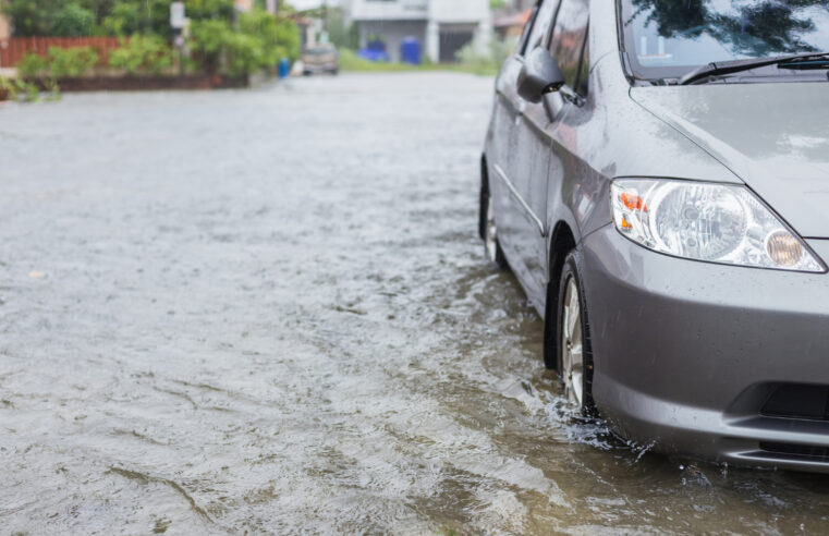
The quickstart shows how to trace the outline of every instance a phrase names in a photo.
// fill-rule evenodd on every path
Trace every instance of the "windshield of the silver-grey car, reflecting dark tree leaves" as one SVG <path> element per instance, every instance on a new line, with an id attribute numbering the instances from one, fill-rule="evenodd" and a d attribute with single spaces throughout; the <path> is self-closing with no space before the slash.
<path id="1" fill-rule="evenodd" d="M 829 51 L 827 0 L 622 0 L 624 48 L 638 78 L 710 62 Z"/>

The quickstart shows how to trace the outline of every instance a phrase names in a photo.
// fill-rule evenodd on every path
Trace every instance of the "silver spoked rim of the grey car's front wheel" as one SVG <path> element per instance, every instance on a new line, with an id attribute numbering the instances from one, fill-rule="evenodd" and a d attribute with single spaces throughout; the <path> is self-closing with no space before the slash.
<path id="1" fill-rule="evenodd" d="M 575 278 L 568 279 L 564 292 L 561 326 L 562 376 L 564 394 L 578 407 L 584 404 L 584 339 L 582 331 L 582 306 L 578 301 L 578 285 Z"/>

